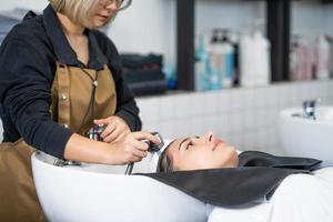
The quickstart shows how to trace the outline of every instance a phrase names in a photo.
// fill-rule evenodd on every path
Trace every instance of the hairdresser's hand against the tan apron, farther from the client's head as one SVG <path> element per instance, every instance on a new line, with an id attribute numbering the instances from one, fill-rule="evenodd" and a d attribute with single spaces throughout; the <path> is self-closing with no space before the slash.
<path id="1" fill-rule="evenodd" d="M 104 142 L 117 142 L 121 140 L 125 134 L 131 132 L 125 121 L 117 115 L 112 115 L 107 119 L 94 120 L 93 122 L 94 124 L 105 125 L 105 129 L 101 134 Z"/>

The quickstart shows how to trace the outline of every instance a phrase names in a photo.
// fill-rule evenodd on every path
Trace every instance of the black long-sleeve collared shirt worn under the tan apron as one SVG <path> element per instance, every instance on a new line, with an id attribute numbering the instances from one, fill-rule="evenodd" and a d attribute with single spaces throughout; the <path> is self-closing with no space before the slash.
<path id="1" fill-rule="evenodd" d="M 85 30 L 89 38 L 88 68 L 112 71 L 117 89 L 115 114 L 132 131 L 141 129 L 139 109 L 121 75 L 118 51 L 108 37 Z M 60 27 L 57 14 L 48 6 L 43 14 L 29 18 L 16 26 L 0 48 L 0 114 L 3 142 L 20 138 L 51 155 L 63 158 L 65 143 L 72 131 L 51 120 L 51 87 L 56 61 L 79 67 L 75 52 Z"/>

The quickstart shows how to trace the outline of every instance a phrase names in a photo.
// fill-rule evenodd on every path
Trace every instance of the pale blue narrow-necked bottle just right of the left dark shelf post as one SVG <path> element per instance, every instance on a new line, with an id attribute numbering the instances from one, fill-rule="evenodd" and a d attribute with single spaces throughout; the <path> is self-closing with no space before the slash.
<path id="1" fill-rule="evenodd" d="M 205 50 L 204 36 L 199 36 L 199 46 L 195 52 L 194 65 L 194 89 L 195 91 L 203 91 L 210 88 L 209 85 L 209 70 L 210 56 Z"/>

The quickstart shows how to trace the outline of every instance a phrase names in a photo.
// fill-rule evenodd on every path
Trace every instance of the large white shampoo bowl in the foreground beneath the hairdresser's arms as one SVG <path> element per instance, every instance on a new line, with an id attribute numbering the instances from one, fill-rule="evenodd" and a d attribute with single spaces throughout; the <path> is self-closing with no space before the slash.
<path id="1" fill-rule="evenodd" d="M 49 221 L 206 221 L 203 202 L 154 179 L 123 175 L 123 167 L 56 167 L 56 159 L 42 152 L 31 159 L 37 193 Z"/>

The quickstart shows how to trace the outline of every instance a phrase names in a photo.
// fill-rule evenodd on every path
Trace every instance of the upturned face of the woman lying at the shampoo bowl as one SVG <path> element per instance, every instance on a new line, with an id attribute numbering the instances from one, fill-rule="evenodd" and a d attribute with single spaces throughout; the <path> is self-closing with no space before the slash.
<path id="1" fill-rule="evenodd" d="M 164 159 L 167 158 L 174 171 L 232 168 L 239 161 L 235 149 L 211 132 L 173 141 L 164 153 Z M 165 160 L 162 161 L 162 167 Z"/>

